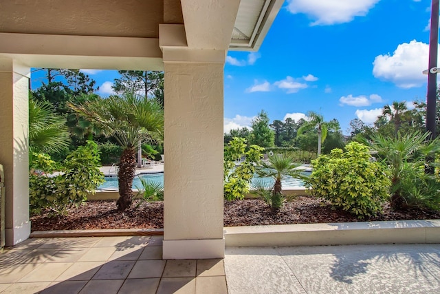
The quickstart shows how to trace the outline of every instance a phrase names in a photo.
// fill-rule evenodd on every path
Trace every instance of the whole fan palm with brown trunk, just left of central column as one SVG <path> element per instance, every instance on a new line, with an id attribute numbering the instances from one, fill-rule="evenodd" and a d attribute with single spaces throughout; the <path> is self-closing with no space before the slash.
<path id="1" fill-rule="evenodd" d="M 116 204 L 119 211 L 128 209 L 132 202 L 137 147 L 144 140 L 162 140 L 164 112 L 161 105 L 155 99 L 125 93 L 69 106 L 122 146 L 118 171 L 120 198 Z"/>

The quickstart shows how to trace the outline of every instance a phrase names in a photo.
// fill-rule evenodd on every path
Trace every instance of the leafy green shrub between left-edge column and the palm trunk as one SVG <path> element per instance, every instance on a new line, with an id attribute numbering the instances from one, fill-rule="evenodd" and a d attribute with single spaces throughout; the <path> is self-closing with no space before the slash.
<path id="1" fill-rule="evenodd" d="M 45 154 L 33 156 L 29 183 L 32 214 L 50 209 L 63 215 L 70 207 L 87 200 L 88 193 L 94 193 L 104 182 L 104 174 L 99 170 L 98 145 L 92 141 L 69 154 L 62 165 L 56 165 Z M 56 170 L 61 173 L 53 174 Z"/>

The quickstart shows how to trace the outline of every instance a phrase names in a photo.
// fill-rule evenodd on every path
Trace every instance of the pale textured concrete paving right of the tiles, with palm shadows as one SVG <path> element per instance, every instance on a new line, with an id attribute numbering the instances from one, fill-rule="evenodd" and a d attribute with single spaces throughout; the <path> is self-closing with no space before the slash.
<path id="1" fill-rule="evenodd" d="M 239 293 L 440 293 L 440 244 L 230 247 Z"/>

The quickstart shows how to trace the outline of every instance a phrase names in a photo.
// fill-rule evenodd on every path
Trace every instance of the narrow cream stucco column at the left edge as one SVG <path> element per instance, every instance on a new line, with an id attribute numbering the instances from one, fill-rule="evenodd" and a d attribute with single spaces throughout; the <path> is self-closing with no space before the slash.
<path id="1" fill-rule="evenodd" d="M 29 238 L 29 78 L 30 68 L 0 59 L 0 163 L 5 169 L 5 241 Z"/>

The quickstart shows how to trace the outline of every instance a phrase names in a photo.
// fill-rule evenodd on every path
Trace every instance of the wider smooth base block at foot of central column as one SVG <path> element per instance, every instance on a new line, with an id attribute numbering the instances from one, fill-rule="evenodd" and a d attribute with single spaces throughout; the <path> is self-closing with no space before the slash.
<path id="1" fill-rule="evenodd" d="M 164 260 L 201 260 L 225 257 L 225 238 L 206 240 L 164 240 Z"/>

